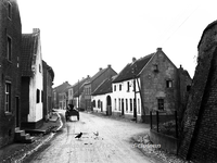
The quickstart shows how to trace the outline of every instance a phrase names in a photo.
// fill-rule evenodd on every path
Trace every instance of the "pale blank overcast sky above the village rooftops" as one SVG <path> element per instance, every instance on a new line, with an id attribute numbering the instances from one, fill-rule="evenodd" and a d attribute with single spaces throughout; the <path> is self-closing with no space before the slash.
<path id="1" fill-rule="evenodd" d="M 54 87 L 100 67 L 119 73 L 131 59 L 163 48 L 194 75 L 197 43 L 217 20 L 216 0 L 17 0 L 23 34 L 41 30 L 42 59 Z"/>

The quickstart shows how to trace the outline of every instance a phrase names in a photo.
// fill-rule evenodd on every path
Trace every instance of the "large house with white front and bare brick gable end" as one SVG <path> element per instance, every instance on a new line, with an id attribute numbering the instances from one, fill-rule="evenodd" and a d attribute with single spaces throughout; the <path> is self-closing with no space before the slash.
<path id="1" fill-rule="evenodd" d="M 179 72 L 184 80 L 180 80 Z M 180 89 L 180 85 L 184 89 Z M 113 80 L 113 112 L 144 122 L 149 122 L 145 115 L 150 111 L 173 114 L 180 109 L 180 92 L 184 97 L 187 85 L 191 85 L 188 72 L 178 71 L 162 48 L 157 48 L 144 58 L 133 58 Z"/>

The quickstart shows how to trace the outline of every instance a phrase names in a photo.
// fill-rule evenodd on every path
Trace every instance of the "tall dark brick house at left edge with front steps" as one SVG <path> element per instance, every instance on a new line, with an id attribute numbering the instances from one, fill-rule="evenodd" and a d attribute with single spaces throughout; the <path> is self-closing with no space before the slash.
<path id="1" fill-rule="evenodd" d="M 16 0 L 0 2 L 0 148 L 14 140 L 21 125 L 22 24 Z"/>

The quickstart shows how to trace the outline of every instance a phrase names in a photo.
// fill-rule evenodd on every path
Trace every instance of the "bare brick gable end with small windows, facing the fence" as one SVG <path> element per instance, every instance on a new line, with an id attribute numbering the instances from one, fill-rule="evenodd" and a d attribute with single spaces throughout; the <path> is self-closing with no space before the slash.
<path id="1" fill-rule="evenodd" d="M 182 68 L 176 67 L 162 48 L 157 48 L 148 64 L 138 74 L 141 80 L 143 115 L 149 115 L 150 111 L 161 111 L 165 114 L 174 114 L 174 111 L 179 111 L 181 103 L 184 103 L 181 96 L 188 93 L 187 86 L 191 85 L 191 77 L 188 72 L 186 74 Z"/>

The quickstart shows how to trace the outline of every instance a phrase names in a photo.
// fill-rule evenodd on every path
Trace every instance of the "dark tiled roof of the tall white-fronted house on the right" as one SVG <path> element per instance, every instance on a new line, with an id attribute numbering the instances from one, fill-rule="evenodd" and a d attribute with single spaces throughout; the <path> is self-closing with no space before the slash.
<path id="1" fill-rule="evenodd" d="M 133 63 L 128 63 L 118 74 L 118 76 L 113 80 L 113 83 L 120 83 L 124 80 L 132 79 L 135 75 L 137 76 L 141 72 L 141 70 L 146 65 L 153 55 L 154 53 L 151 53 L 139 60 L 136 60 Z"/>

